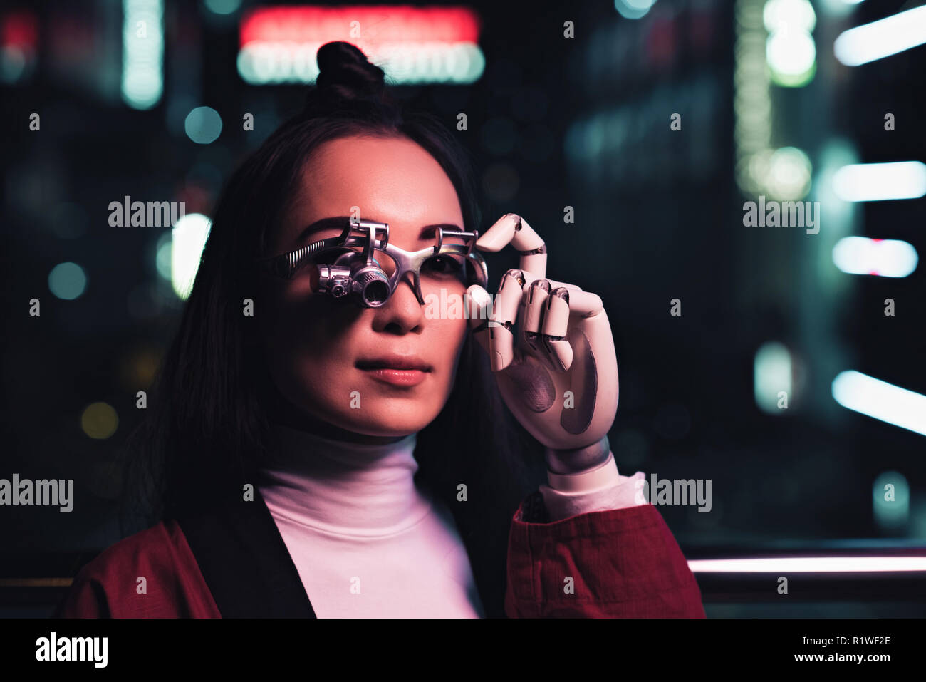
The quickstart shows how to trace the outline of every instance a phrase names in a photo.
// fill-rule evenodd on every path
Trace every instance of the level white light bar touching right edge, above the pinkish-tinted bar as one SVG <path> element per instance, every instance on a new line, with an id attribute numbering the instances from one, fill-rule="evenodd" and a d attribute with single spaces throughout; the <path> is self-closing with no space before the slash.
<path id="1" fill-rule="evenodd" d="M 843 166 L 833 173 L 832 191 L 844 201 L 919 199 L 926 195 L 926 164 L 892 161 Z"/>

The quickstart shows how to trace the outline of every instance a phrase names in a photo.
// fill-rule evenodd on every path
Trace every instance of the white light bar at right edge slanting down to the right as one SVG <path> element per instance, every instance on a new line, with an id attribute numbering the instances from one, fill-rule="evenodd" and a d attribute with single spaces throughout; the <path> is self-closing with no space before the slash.
<path id="1" fill-rule="evenodd" d="M 860 372 L 839 373 L 832 397 L 848 410 L 926 436 L 926 396 Z"/>

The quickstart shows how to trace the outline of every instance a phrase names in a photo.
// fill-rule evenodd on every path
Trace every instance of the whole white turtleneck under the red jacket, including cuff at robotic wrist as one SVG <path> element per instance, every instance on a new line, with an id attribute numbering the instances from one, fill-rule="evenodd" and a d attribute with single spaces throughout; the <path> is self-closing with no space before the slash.
<path id="1" fill-rule="evenodd" d="M 281 447 L 257 486 L 319 618 L 484 615 L 453 515 L 415 486 L 417 435 L 366 445 L 274 431 Z M 630 480 L 611 457 L 541 492 L 556 520 L 636 504 Z"/>

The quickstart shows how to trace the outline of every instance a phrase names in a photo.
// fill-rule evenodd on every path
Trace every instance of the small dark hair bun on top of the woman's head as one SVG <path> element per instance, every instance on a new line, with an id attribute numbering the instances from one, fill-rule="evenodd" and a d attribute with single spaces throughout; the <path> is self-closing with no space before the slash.
<path id="1" fill-rule="evenodd" d="M 385 98 L 385 72 L 357 45 L 335 41 L 319 47 L 319 78 L 307 97 L 306 108 L 340 105 L 358 100 L 377 102 Z"/>

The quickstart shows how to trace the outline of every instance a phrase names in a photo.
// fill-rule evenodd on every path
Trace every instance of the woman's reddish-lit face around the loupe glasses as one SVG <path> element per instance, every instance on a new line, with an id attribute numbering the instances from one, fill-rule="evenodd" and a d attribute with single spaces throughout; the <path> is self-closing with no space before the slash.
<path id="1" fill-rule="evenodd" d="M 356 207 L 356 208 L 355 208 Z M 359 214 L 388 222 L 389 242 L 407 251 L 433 246 L 428 225 L 463 228 L 453 183 L 440 164 L 407 138 L 345 137 L 319 146 L 302 174 L 299 192 L 266 254 L 291 251 L 337 236 L 343 227 L 303 234 L 326 218 Z M 466 335 L 465 319 L 427 319 L 410 276 L 380 308 L 364 309 L 312 293 L 309 270 L 291 281 L 265 281 L 261 322 L 271 379 L 300 415 L 353 434 L 395 438 L 416 433 L 444 408 Z M 421 272 L 421 294 L 462 297 L 460 276 Z M 443 315 L 441 317 L 446 317 Z M 457 316 L 462 318 L 462 316 Z M 429 369 L 400 385 L 396 374 L 367 365 L 388 356 L 418 360 Z"/>

